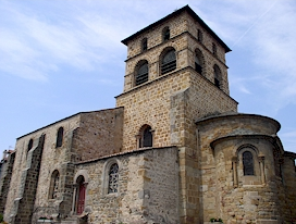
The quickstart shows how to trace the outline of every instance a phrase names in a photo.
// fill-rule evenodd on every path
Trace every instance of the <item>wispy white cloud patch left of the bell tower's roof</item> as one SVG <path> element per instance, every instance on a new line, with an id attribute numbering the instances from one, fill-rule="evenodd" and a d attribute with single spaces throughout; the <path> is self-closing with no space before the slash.
<path id="1" fill-rule="evenodd" d="M 46 80 L 62 65 L 91 71 L 98 63 L 112 60 L 112 49 L 115 51 L 121 45 L 119 34 L 123 26 L 109 28 L 111 24 L 91 14 L 82 17 L 65 12 L 67 21 L 52 23 L 40 12 L 10 2 L 0 10 L 5 14 L 0 24 L 0 54 L 4 55 L 0 70 L 7 74 Z"/>

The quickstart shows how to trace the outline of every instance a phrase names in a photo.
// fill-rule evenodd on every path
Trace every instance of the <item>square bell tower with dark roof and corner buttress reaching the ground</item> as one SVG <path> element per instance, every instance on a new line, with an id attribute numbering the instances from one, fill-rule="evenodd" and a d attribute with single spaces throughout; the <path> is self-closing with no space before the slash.
<path id="1" fill-rule="evenodd" d="M 225 64 L 231 50 L 188 5 L 122 42 L 127 59 L 116 107 L 124 108 L 123 151 L 177 147 L 181 223 L 198 223 L 202 149 L 195 120 L 237 111 Z"/>

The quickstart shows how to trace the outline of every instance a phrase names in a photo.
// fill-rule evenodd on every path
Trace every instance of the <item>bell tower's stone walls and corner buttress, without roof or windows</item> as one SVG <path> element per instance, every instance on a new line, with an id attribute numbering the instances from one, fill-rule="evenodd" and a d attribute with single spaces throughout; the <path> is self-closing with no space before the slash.
<path id="1" fill-rule="evenodd" d="M 161 30 L 165 26 L 170 27 L 172 35 L 169 41 L 162 43 Z M 196 126 L 193 121 L 209 114 L 237 111 L 237 102 L 227 96 L 225 50 L 207 33 L 203 34 L 203 41 L 198 42 L 195 28 L 200 27 L 184 13 L 131 41 L 127 45 L 132 51 L 128 51 L 126 61 L 124 94 L 119 96 L 116 101 L 118 107 L 125 109 L 124 150 L 137 148 L 135 136 L 144 124 L 150 125 L 153 129 L 155 147 L 182 146 L 180 151 L 182 223 L 195 223 L 199 216 L 200 179 L 197 172 Z M 148 38 L 148 50 L 141 53 L 140 41 L 145 37 Z M 153 43 L 150 47 L 149 41 Z M 212 42 L 218 46 L 217 55 L 211 51 Z M 160 76 L 161 52 L 166 47 L 176 50 L 177 67 L 176 71 Z M 196 49 L 202 53 L 202 76 L 193 70 Z M 136 65 L 140 60 L 148 61 L 149 80 L 134 87 Z M 213 85 L 214 64 L 218 64 L 222 72 L 223 91 Z"/>

